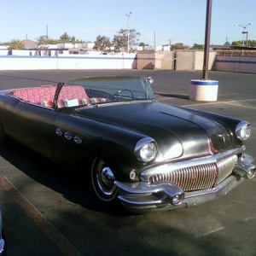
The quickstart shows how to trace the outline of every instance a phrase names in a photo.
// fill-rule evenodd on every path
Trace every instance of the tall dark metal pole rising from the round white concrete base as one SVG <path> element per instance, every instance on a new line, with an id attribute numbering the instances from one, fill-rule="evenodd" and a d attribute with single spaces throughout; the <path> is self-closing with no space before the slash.
<path id="1" fill-rule="evenodd" d="M 212 20 L 212 0 L 207 0 L 207 17 L 206 17 L 206 32 L 205 32 L 205 47 L 204 47 L 204 61 L 202 79 L 208 80 L 208 62 L 209 62 L 209 49 L 210 49 L 210 33 L 211 33 L 211 20 Z"/>

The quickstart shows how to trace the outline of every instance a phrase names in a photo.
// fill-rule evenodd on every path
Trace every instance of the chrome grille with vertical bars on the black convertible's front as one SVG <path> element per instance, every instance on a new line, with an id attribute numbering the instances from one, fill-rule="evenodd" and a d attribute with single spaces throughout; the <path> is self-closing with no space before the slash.
<path id="1" fill-rule="evenodd" d="M 148 177 L 148 181 L 149 183 L 174 183 L 183 191 L 211 189 L 230 176 L 236 160 L 237 156 L 232 155 L 216 163 L 189 166 L 172 172 L 154 174 Z"/>

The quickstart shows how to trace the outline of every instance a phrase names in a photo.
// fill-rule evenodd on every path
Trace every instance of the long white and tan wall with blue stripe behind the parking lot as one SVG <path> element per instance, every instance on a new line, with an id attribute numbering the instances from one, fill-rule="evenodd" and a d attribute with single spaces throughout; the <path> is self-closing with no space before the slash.
<path id="1" fill-rule="evenodd" d="M 163 52 L 119 53 L 103 55 L 91 52 L 87 55 L 68 55 L 52 51 L 50 55 L 36 50 L 0 50 L 0 70 L 36 69 L 162 69 L 202 70 L 204 52 L 201 50 L 177 50 Z M 215 51 L 209 53 L 209 70 L 256 73 L 256 56 L 224 56 Z"/>

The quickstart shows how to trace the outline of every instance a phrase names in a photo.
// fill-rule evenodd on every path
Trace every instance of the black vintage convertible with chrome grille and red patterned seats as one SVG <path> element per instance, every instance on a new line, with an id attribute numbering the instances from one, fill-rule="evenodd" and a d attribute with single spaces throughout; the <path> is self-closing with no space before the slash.
<path id="1" fill-rule="evenodd" d="M 2 90 L 0 137 L 71 166 L 70 175 L 79 164 L 98 200 L 137 213 L 211 201 L 254 176 L 247 121 L 157 102 L 152 82 L 107 76 Z"/>

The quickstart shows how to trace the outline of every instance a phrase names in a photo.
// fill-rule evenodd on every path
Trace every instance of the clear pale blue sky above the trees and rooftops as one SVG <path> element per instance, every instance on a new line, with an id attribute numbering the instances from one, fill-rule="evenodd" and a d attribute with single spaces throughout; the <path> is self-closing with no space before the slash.
<path id="1" fill-rule="evenodd" d="M 49 38 L 67 32 L 84 41 L 98 35 L 112 40 L 127 29 L 130 11 L 139 42 L 192 46 L 205 40 L 207 0 L 0 0 L 0 9 L 0 42 L 36 40 L 47 32 Z M 210 43 L 241 40 L 248 23 L 248 39 L 256 40 L 255 12 L 255 0 L 212 0 Z"/>

